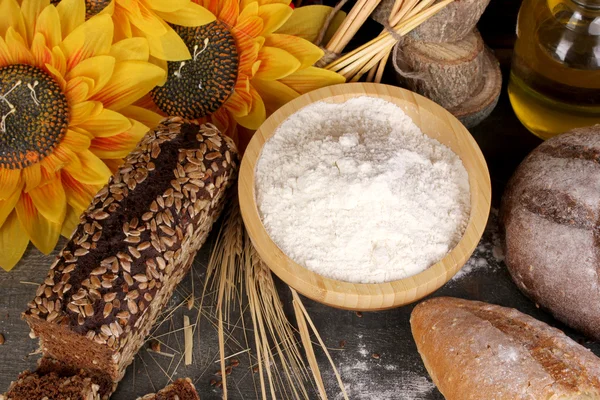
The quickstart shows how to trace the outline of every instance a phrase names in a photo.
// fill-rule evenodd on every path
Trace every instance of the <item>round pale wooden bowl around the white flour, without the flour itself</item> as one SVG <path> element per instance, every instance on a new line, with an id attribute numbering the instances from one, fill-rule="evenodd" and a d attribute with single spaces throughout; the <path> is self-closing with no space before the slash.
<path id="1" fill-rule="evenodd" d="M 357 96 L 378 97 L 402 108 L 423 133 L 450 147 L 462 160 L 471 186 L 471 215 L 466 231 L 441 261 L 414 276 L 378 284 L 357 284 L 325 278 L 300 266 L 271 240 L 262 224 L 254 193 L 254 169 L 263 144 L 277 127 L 301 108 L 317 102 L 341 103 Z M 374 311 L 419 300 L 439 289 L 469 259 L 477 246 L 490 211 L 490 177 L 479 146 L 469 131 L 448 111 L 416 93 L 381 84 L 350 83 L 322 88 L 292 100 L 254 134 L 242 160 L 238 182 L 246 229 L 258 254 L 285 283 L 303 295 L 332 307 Z"/>

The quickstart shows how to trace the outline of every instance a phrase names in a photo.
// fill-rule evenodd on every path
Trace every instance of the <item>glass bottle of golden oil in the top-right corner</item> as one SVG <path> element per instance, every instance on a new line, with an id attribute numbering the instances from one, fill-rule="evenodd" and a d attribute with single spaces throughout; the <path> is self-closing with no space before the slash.
<path id="1" fill-rule="evenodd" d="M 508 94 L 542 139 L 600 123 L 600 0 L 524 0 Z"/>

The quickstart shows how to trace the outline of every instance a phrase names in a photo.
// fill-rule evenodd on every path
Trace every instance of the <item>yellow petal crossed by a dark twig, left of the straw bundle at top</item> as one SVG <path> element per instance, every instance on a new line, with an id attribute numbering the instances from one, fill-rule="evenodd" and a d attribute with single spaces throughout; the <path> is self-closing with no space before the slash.
<path id="1" fill-rule="evenodd" d="M 300 37 L 315 43 L 331 10 L 331 7 L 320 5 L 298 7 L 285 24 L 277 30 L 277 33 Z M 322 44 L 325 45 L 329 42 L 345 18 L 346 13 L 338 11 L 325 33 Z"/>

